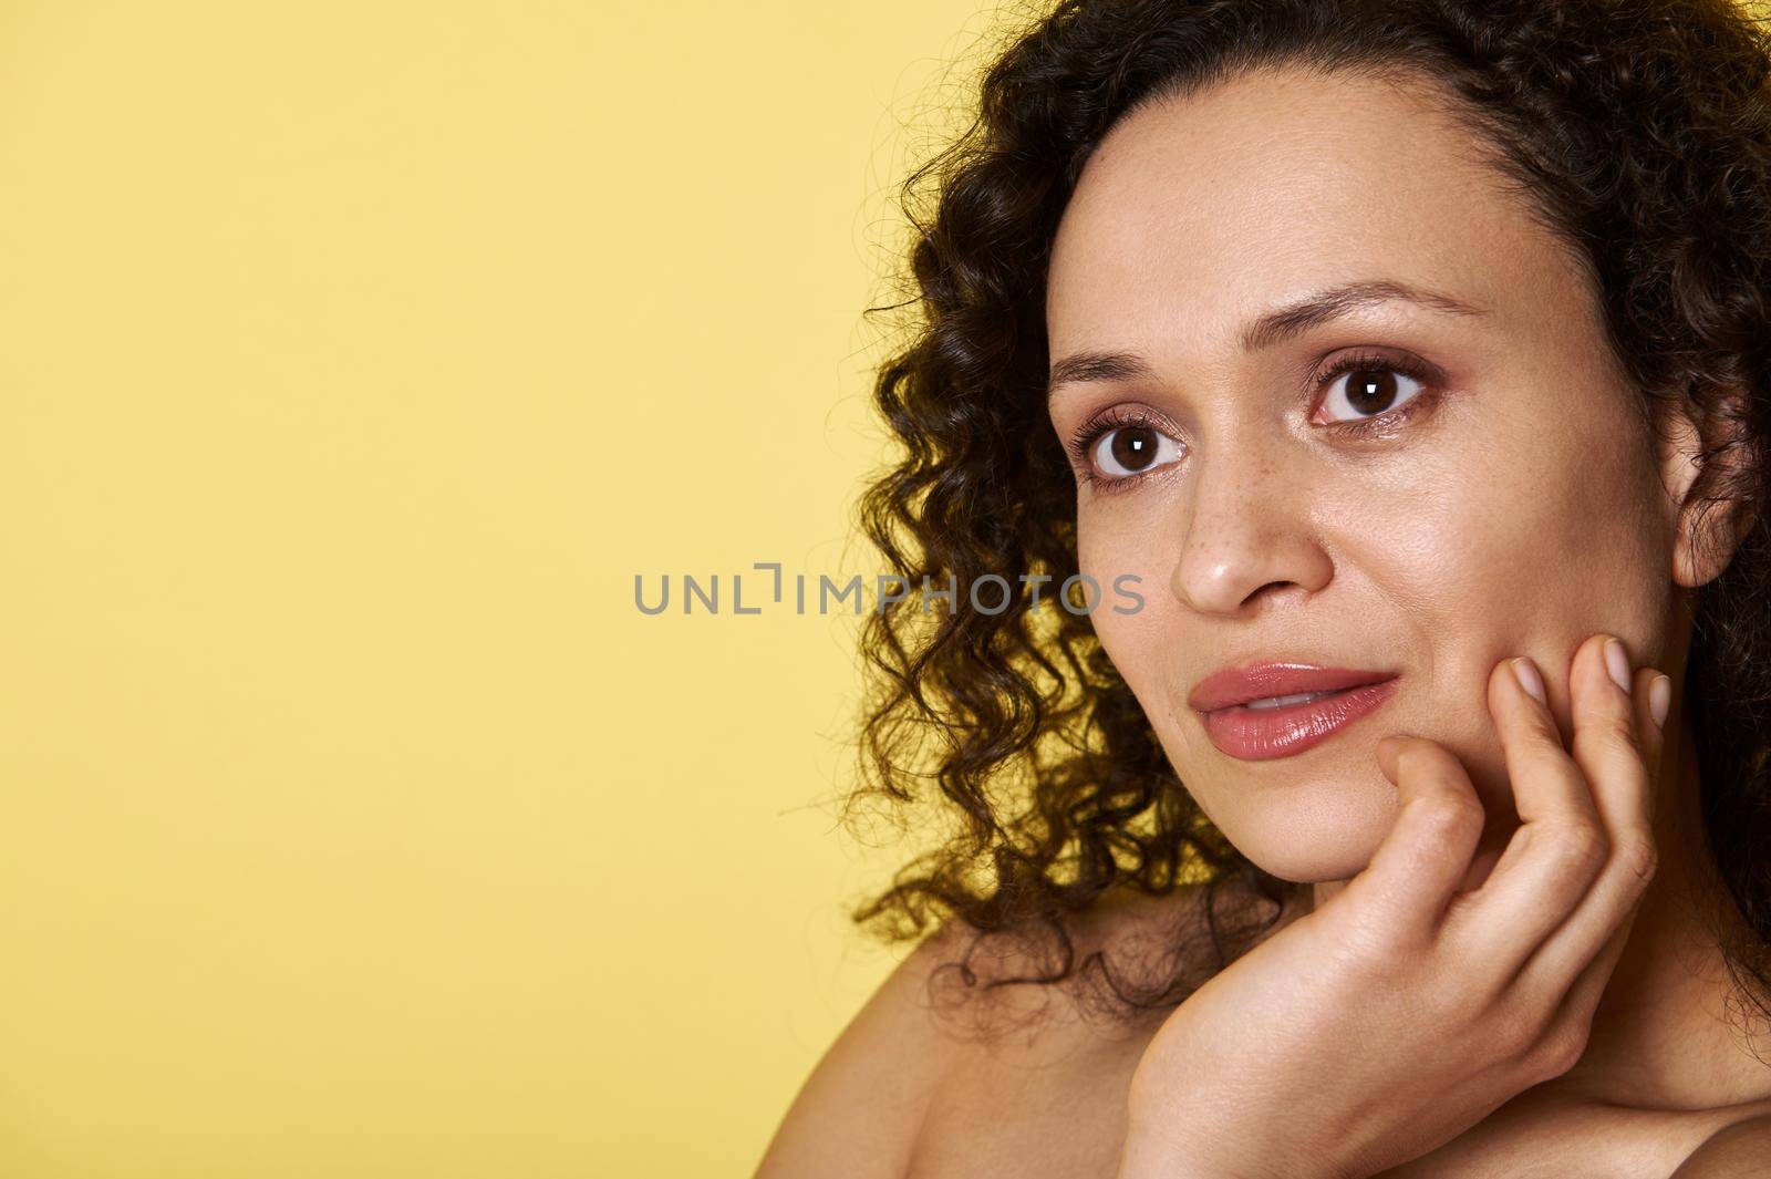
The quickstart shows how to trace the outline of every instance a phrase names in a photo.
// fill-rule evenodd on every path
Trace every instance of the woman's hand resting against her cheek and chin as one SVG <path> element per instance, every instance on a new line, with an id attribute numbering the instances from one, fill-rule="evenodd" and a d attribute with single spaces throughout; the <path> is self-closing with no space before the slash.
<path id="1" fill-rule="evenodd" d="M 1119 1179 L 1364 1179 L 1573 1067 L 1656 866 L 1659 673 L 1624 692 L 1605 641 L 1574 651 L 1573 756 L 1516 660 L 1489 673 L 1523 821 L 1479 889 L 1456 890 L 1486 818 L 1463 765 L 1420 736 L 1378 742 L 1394 827 L 1158 1029 Z"/>

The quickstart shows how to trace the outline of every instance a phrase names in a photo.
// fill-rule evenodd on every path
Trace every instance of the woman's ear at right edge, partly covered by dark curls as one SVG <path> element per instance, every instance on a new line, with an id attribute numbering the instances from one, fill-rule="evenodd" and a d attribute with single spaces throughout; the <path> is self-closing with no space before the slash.
<path id="1" fill-rule="evenodd" d="M 1695 590 L 1721 574 L 1757 522 L 1759 441 L 1746 389 L 1656 400 L 1656 444 L 1674 526 L 1672 577 Z M 1707 402 L 1707 405 L 1704 404 Z"/>

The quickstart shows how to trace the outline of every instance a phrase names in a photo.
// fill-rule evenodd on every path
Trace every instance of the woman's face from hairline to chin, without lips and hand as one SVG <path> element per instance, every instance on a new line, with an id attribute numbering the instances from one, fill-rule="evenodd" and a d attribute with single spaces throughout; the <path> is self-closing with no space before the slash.
<path id="1" fill-rule="evenodd" d="M 1206 814 L 1288 880 L 1369 862 L 1394 821 L 1387 733 L 1449 747 L 1489 830 L 1516 821 L 1498 660 L 1537 660 L 1567 733 L 1583 639 L 1663 657 L 1663 476 L 1688 474 L 1642 428 L 1576 262 L 1426 87 L 1259 71 L 1137 112 L 1089 159 L 1048 274 L 1071 377 L 1052 425 L 1105 430 L 1077 458 L 1094 628 Z M 1128 356 L 1064 365 L 1084 352 Z M 1121 614 L 1126 574 L 1144 605 Z M 1307 749 L 1227 752 L 1188 696 L 1268 660 L 1396 680 Z"/>

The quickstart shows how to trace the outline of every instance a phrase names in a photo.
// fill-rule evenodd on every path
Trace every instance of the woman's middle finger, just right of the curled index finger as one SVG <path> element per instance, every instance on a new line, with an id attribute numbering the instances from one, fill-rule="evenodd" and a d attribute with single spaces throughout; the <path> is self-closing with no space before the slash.
<path id="1" fill-rule="evenodd" d="M 1484 963 L 1496 986 L 1511 984 L 1567 921 L 1610 853 L 1603 818 L 1580 767 L 1562 747 L 1555 715 L 1521 687 L 1512 662 L 1530 664 L 1528 657 L 1500 662 L 1489 676 L 1489 708 L 1523 821 L 1482 887 L 1461 898 L 1445 931 L 1458 954 Z"/>

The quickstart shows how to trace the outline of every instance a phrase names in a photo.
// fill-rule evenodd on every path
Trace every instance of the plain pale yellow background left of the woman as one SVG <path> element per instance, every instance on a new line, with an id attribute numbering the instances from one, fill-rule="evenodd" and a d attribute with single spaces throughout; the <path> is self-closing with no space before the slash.
<path id="1" fill-rule="evenodd" d="M 0 1174 L 749 1174 L 852 620 L 632 577 L 870 566 L 988 7 L 0 4 Z"/>

